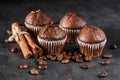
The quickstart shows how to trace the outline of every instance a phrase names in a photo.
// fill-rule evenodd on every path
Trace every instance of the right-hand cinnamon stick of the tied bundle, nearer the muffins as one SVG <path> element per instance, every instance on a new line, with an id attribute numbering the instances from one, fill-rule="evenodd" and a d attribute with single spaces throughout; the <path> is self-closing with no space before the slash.
<path id="1" fill-rule="evenodd" d="M 32 49 L 32 52 L 34 54 L 34 57 L 38 58 L 40 56 L 42 56 L 43 54 L 43 49 L 40 48 L 36 43 L 35 41 L 33 40 L 33 38 L 31 37 L 30 34 L 24 34 L 26 40 L 27 40 L 27 43 L 29 44 L 29 46 L 31 47 Z"/>

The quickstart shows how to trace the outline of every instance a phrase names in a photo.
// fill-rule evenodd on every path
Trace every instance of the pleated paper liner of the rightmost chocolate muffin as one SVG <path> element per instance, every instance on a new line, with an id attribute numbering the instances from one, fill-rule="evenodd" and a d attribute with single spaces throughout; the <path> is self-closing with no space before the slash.
<path id="1" fill-rule="evenodd" d="M 106 41 L 107 41 L 107 39 L 101 43 L 88 44 L 88 43 L 81 42 L 77 38 L 77 42 L 79 44 L 81 53 L 85 56 L 91 56 L 92 58 L 99 57 L 102 54 L 103 48 L 106 44 Z"/>

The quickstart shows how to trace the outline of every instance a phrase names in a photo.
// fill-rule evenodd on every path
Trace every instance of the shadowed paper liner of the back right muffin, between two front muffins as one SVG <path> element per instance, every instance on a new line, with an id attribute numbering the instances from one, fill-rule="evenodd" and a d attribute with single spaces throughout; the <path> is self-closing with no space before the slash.
<path id="1" fill-rule="evenodd" d="M 80 30 L 69 30 L 69 29 L 65 29 L 63 28 L 61 25 L 59 25 L 59 27 L 64 30 L 67 33 L 67 43 L 76 43 L 76 37 L 78 36 L 78 33 L 80 32 Z"/>

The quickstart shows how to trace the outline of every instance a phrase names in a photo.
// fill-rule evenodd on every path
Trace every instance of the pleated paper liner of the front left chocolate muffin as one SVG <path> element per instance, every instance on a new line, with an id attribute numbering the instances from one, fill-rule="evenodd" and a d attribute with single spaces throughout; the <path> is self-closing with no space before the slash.
<path id="1" fill-rule="evenodd" d="M 67 40 L 67 36 L 66 38 L 64 38 L 63 40 L 56 40 L 56 41 L 46 41 L 44 39 L 41 39 L 37 36 L 38 42 L 39 44 L 45 48 L 48 52 L 52 53 L 52 55 L 56 54 L 56 53 L 60 53 L 64 47 L 64 44 Z"/>

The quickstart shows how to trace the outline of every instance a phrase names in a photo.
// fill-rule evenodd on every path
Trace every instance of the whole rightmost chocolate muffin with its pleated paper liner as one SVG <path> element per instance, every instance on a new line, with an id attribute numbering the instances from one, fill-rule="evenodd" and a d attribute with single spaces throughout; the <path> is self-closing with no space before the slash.
<path id="1" fill-rule="evenodd" d="M 106 41 L 105 33 L 96 26 L 85 26 L 77 37 L 81 53 L 92 58 L 101 55 Z"/>

